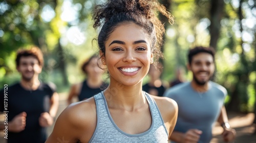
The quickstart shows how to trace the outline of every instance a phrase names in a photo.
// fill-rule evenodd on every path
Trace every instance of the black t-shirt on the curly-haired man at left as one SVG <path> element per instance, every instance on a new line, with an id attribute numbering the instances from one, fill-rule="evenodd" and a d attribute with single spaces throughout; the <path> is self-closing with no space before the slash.
<path id="1" fill-rule="evenodd" d="M 1 90 L 0 111 L 8 111 L 8 122 L 21 112 L 27 113 L 25 130 L 19 133 L 8 131 L 8 142 L 45 142 L 46 128 L 42 128 L 38 120 L 42 112 L 50 110 L 50 99 L 55 92 L 55 85 L 40 83 L 38 89 L 26 90 L 20 83 L 16 83 L 5 91 L 8 92 L 8 107 L 4 107 L 4 90 Z"/>

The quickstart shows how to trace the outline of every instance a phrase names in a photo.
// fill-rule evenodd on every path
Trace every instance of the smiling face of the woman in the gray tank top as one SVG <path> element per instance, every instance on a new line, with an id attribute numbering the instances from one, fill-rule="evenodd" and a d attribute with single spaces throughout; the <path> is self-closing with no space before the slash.
<path id="1" fill-rule="evenodd" d="M 110 80 L 126 86 L 142 82 L 153 62 L 150 45 L 147 35 L 135 23 L 117 27 L 106 40 L 105 56 L 101 58 Z"/>

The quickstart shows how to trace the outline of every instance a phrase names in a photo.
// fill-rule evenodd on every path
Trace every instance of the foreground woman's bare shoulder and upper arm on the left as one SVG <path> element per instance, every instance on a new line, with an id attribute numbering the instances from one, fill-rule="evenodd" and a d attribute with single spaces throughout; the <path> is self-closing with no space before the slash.
<path id="1" fill-rule="evenodd" d="M 65 137 L 70 142 L 89 142 L 97 125 L 94 98 L 69 105 L 58 116 L 48 142 Z"/>

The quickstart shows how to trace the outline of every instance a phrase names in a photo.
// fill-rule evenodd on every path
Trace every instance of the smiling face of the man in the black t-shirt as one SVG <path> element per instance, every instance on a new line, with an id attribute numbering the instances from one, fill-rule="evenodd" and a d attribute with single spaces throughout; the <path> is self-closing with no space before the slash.
<path id="1" fill-rule="evenodd" d="M 21 57 L 17 70 L 22 74 L 22 78 L 30 81 L 34 76 L 41 73 L 42 67 L 38 64 L 38 60 L 33 56 Z"/>

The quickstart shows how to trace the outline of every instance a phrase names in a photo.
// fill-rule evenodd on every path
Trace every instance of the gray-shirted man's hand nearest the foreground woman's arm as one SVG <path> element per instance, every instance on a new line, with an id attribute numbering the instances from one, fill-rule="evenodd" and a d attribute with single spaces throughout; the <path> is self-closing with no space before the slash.
<path id="1" fill-rule="evenodd" d="M 203 132 L 198 129 L 189 129 L 182 138 L 182 143 L 197 143 Z"/>

